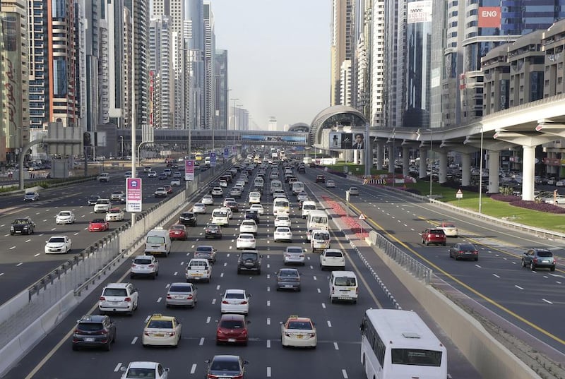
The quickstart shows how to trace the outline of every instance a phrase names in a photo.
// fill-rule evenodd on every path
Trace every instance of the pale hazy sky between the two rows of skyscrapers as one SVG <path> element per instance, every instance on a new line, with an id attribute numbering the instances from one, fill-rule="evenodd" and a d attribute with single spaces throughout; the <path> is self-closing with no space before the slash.
<path id="1" fill-rule="evenodd" d="M 305 122 L 330 105 L 331 0 L 211 0 L 230 98 L 255 128 Z M 234 102 L 230 100 L 230 107 Z"/>

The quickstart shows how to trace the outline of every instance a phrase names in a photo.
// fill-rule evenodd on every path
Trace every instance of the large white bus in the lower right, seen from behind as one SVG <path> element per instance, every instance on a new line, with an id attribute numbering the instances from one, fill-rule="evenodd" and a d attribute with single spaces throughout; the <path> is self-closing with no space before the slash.
<path id="1" fill-rule="evenodd" d="M 365 311 L 361 363 L 367 379 L 447 378 L 446 347 L 413 311 Z"/>

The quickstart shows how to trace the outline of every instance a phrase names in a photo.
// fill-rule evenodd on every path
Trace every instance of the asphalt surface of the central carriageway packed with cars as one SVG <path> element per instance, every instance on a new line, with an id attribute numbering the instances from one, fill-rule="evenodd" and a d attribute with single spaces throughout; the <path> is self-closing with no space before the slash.
<path id="1" fill-rule="evenodd" d="M 314 170 L 312 170 L 314 171 Z M 313 174 L 316 174 L 314 171 Z M 308 175 L 310 176 L 310 174 Z M 253 176 L 251 176 L 251 179 Z M 267 182 L 268 183 L 268 182 Z M 240 203 L 246 203 L 249 191 L 246 186 Z M 311 184 L 309 184 L 311 186 Z M 315 192 L 319 188 L 312 186 Z M 288 192 L 288 186 L 285 186 Z M 309 253 L 304 238 L 304 220 L 296 203 L 291 209 L 292 243 L 273 243 L 272 198 L 268 189 L 263 194 L 265 215 L 261 216 L 258 231 L 258 250 L 263 253 L 261 275 L 237 275 L 237 249 L 235 238 L 239 234 L 237 224 L 242 213 L 235 213 L 230 226 L 224 228 L 221 240 L 205 240 L 203 225 L 210 217 L 198 216 L 198 227 L 189 228 L 188 241 L 174 241 L 168 258 L 159 258 L 160 272 L 157 279 L 129 279 L 129 262 L 114 272 L 107 282 L 131 281 L 139 290 L 140 305 L 132 316 L 114 315 L 117 323 L 117 342 L 112 351 L 72 351 L 70 336 L 76 320 L 86 313 L 97 313 L 97 299 L 101 287 L 95 289 L 81 305 L 49 334 L 16 368 L 6 375 L 7 379 L 66 379 L 119 378 L 120 368 L 129 361 L 160 361 L 170 368 L 169 378 L 203 378 L 206 375 L 206 359 L 215 354 L 239 354 L 249 361 L 249 378 L 363 378 L 360 363 L 359 322 L 367 308 L 393 304 L 371 273 L 352 251 L 341 231 L 333 230 L 332 247 L 341 247 L 347 253 L 347 270 L 355 270 L 359 276 L 359 300 L 357 304 L 331 303 L 328 299 L 328 271 L 319 268 L 318 254 Z M 290 199 L 294 200 L 293 197 Z M 216 200 L 216 204 L 220 199 Z M 184 281 L 184 267 L 199 244 L 212 244 L 218 248 L 218 261 L 213 266 L 210 283 L 198 283 L 196 308 L 165 308 L 164 297 L 172 282 Z M 274 274 L 283 267 L 283 250 L 286 246 L 300 245 L 307 248 L 307 263 L 299 267 L 302 273 L 302 291 L 275 291 Z M 383 269 L 384 270 L 384 269 Z M 386 276 L 386 272 L 383 272 Z M 389 274 L 390 275 L 390 274 Z M 387 283 L 396 299 L 405 309 L 420 310 L 419 304 L 408 294 L 402 284 Z M 251 297 L 249 312 L 250 341 L 248 346 L 216 346 L 215 325 L 220 316 L 220 298 L 225 289 L 246 289 Z M 175 315 L 183 323 L 182 342 L 178 349 L 143 348 L 141 333 L 144 320 L 153 313 Z M 283 349 L 280 345 L 280 322 L 288 315 L 313 318 L 318 332 L 316 349 Z M 422 314 L 430 327 L 436 330 L 446 343 L 449 355 L 449 373 L 453 378 L 480 378 L 470 364 L 442 335 L 441 330 Z"/>

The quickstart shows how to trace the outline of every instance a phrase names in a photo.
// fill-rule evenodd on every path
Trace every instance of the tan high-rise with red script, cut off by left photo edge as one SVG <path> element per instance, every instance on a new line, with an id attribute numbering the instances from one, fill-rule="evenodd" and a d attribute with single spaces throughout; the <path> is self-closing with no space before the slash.
<path id="1" fill-rule="evenodd" d="M 28 4 L 0 0 L 0 162 L 29 142 Z"/>

